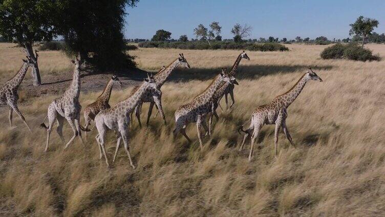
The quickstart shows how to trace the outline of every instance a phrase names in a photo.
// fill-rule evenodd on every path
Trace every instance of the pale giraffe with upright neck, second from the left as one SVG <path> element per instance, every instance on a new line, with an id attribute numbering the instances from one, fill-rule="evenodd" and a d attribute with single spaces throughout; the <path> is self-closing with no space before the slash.
<path id="1" fill-rule="evenodd" d="M 47 116 L 43 120 L 43 122 L 40 124 L 41 127 L 44 127 L 47 129 L 47 144 L 44 150 L 45 152 L 47 152 L 48 150 L 51 129 L 53 127 L 55 120 L 57 120 L 56 132 L 57 134 L 59 134 L 60 139 L 63 143 L 65 143 L 64 137 L 62 134 L 64 119 L 67 119 L 68 123 L 72 128 L 72 131 L 74 132 L 74 135 L 64 147 L 65 149 L 72 143 L 72 141 L 77 136 L 80 136 L 81 142 L 84 145 L 83 139 L 81 138 L 80 129 L 82 131 L 90 131 L 90 129 L 85 129 L 79 123 L 80 110 L 81 110 L 81 105 L 79 103 L 80 70 L 84 64 L 84 63 L 80 64 L 80 62 L 81 62 L 80 56 L 79 58 L 75 57 L 75 60 L 72 60 L 72 63 L 75 64 L 75 69 L 72 75 L 72 82 L 69 88 L 61 97 L 56 98 L 51 102 L 51 104 L 48 106 Z M 48 126 L 44 124 L 44 121 L 47 119 L 47 117 L 48 117 Z"/>

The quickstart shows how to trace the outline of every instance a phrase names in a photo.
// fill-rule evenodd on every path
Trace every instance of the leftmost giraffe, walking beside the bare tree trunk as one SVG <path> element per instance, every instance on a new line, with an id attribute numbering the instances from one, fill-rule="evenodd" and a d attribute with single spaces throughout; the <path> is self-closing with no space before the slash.
<path id="1" fill-rule="evenodd" d="M 36 51 L 37 55 L 37 51 Z M 29 131 L 31 131 L 31 128 L 29 127 L 26 119 L 22 115 L 22 113 L 19 111 L 19 108 L 17 107 L 17 100 L 19 99 L 19 96 L 17 94 L 17 90 L 20 86 L 20 83 L 22 83 L 24 77 L 27 74 L 29 67 L 34 67 L 34 62 L 31 58 L 27 56 L 27 60 L 23 59 L 23 66 L 22 68 L 16 73 L 13 78 L 9 79 L 1 88 L 0 88 L 0 105 L 8 105 L 9 107 L 9 125 L 12 127 L 12 112 L 15 111 L 16 114 L 22 119 L 22 121 L 26 124 Z"/>

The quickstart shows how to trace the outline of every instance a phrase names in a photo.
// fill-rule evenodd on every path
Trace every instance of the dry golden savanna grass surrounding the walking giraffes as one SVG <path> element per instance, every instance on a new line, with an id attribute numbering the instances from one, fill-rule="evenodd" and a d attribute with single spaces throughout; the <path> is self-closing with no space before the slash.
<path id="1" fill-rule="evenodd" d="M 4 82 L 20 67 L 23 53 L 8 48 L 11 44 L 0 46 Z M 288 47 L 289 52 L 247 52 L 250 60 L 242 60 L 238 69 L 236 104 L 223 113 L 218 109 L 220 120 L 213 135 L 204 138 L 203 151 L 194 124 L 186 131 L 193 143 L 181 135 L 173 140 L 174 112 L 203 91 L 220 68 L 230 68 L 241 51 L 130 51 L 145 71 L 167 66 L 181 52 L 191 66 L 174 71 L 162 87 L 166 126 L 154 115 L 148 127 L 139 128 L 134 120 L 130 147 L 135 170 L 122 148 L 114 167 L 107 168 L 99 160 L 95 130 L 85 147 L 76 139 L 66 150 L 53 131 L 44 153 L 46 131 L 38 125 L 59 95 L 20 103 L 32 133 L 16 115 L 17 127 L 10 128 L 8 109 L 1 108 L 0 215 L 383 216 L 385 61 L 323 60 L 319 53 L 325 46 Z M 385 46 L 366 47 L 385 58 Z M 44 75 L 72 67 L 67 57 L 53 51 L 40 52 L 39 66 L 43 81 Z M 243 135 L 236 129 L 256 106 L 289 90 L 308 66 L 324 82 L 309 81 L 288 108 L 287 126 L 296 148 L 281 133 L 275 159 L 274 127 L 264 126 L 248 162 L 250 141 L 239 152 Z M 130 90 L 114 88 L 110 104 Z M 82 93 L 82 106 L 99 94 Z M 147 107 L 142 108 L 142 122 Z M 70 139 L 67 123 L 64 130 Z M 112 132 L 107 141 L 111 160 L 116 144 Z"/>

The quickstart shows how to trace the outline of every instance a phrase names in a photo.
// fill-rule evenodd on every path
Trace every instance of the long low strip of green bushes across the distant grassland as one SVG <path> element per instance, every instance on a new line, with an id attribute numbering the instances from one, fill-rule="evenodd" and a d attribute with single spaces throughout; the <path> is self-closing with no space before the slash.
<path id="1" fill-rule="evenodd" d="M 255 44 L 253 42 L 237 43 L 234 41 L 212 41 L 211 46 L 206 41 L 145 41 L 140 42 L 140 48 L 175 48 L 189 50 L 249 50 L 249 51 L 288 51 L 289 49 L 279 43 L 268 42 Z"/>

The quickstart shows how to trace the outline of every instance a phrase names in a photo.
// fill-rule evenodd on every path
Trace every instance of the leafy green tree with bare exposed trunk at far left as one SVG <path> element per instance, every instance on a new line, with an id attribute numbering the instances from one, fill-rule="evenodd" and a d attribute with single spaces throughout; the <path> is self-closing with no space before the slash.
<path id="1" fill-rule="evenodd" d="M 34 41 L 52 40 L 57 35 L 55 18 L 59 1 L 50 0 L 0 0 L 0 34 L 25 48 L 34 62 L 33 85 L 40 85 L 37 52 Z"/>

